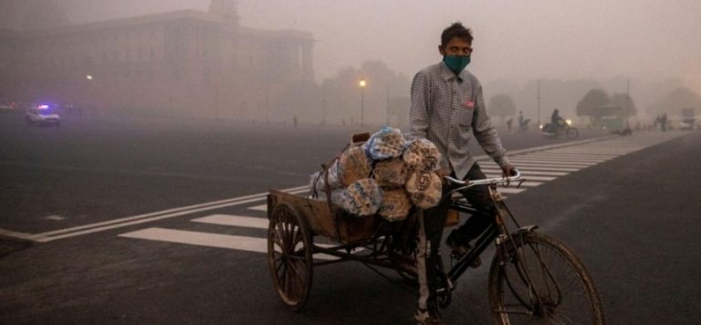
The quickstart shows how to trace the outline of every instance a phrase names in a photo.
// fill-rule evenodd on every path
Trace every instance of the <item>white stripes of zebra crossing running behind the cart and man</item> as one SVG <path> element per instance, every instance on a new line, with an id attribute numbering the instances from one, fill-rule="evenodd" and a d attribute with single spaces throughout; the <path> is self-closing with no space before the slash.
<path id="1" fill-rule="evenodd" d="M 531 151 L 522 151 L 509 155 L 510 161 L 523 174 L 525 182 L 516 188 L 512 183 L 509 187 L 499 187 L 503 194 L 520 194 L 528 189 L 537 188 L 546 182 L 555 181 L 570 173 L 576 173 L 598 163 L 604 163 L 624 154 L 636 152 L 654 144 L 673 139 L 675 136 L 660 134 L 645 134 L 633 137 L 610 138 L 591 142 L 577 142 L 575 145 L 544 146 Z M 501 177 L 501 169 L 486 156 L 477 157 L 483 172 L 489 178 Z M 309 186 L 299 186 L 293 194 L 304 195 Z M 259 202 L 259 201 L 258 201 Z M 191 221 L 200 224 L 233 226 L 241 229 L 267 229 L 268 220 L 263 214 L 267 212 L 267 204 L 254 204 L 246 207 L 252 215 L 205 215 Z M 166 229 L 151 227 L 121 234 L 124 238 L 138 238 L 152 241 L 179 243 L 195 246 L 209 246 L 235 249 L 246 252 L 267 253 L 267 238 L 263 236 L 233 236 L 183 229 Z M 318 246 L 329 246 L 315 243 Z M 315 254 L 315 258 L 336 259 L 323 254 Z"/>

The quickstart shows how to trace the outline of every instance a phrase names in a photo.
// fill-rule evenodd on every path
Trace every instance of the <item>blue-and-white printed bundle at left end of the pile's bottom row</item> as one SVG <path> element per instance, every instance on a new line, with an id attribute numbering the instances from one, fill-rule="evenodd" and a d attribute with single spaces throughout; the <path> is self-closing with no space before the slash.
<path id="1" fill-rule="evenodd" d="M 331 198 L 334 199 L 334 196 L 331 195 Z M 382 203 L 382 189 L 375 180 L 365 178 L 351 183 L 336 199 L 340 202 L 334 203 L 353 215 L 375 215 Z"/>

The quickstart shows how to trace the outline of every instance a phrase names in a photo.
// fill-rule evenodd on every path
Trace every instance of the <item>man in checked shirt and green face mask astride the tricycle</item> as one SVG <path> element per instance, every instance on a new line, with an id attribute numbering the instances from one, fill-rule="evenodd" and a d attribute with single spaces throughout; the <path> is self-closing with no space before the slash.
<path id="1" fill-rule="evenodd" d="M 514 167 L 507 159 L 507 151 L 487 115 L 482 86 L 465 68 L 473 53 L 473 36 L 460 22 L 445 28 L 438 51 L 443 60 L 424 68 L 413 78 L 411 89 L 410 136 L 434 142 L 442 154 L 439 174 L 458 179 L 484 179 L 469 143 L 474 137 L 482 149 L 507 175 Z M 470 241 L 494 222 L 496 207 L 489 199 L 487 185 L 473 186 L 462 193 L 476 207 L 477 213 L 448 236 L 456 256 L 471 249 Z M 436 299 L 440 285 L 439 250 L 443 236 L 448 202 L 424 211 L 420 218 L 423 232 L 419 235 L 417 263 L 419 271 L 419 300 L 414 319 L 420 324 L 442 324 Z M 424 267 L 421 267 L 424 264 Z M 474 265 L 477 267 L 478 263 Z"/>

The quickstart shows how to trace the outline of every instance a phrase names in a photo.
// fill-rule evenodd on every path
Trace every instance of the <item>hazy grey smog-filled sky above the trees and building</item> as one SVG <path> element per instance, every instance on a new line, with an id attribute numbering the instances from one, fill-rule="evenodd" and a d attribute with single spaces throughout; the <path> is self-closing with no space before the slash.
<path id="1" fill-rule="evenodd" d="M 58 0 L 75 23 L 179 9 L 208 0 Z M 413 74 L 441 58 L 440 33 L 473 29 L 468 67 L 483 80 L 694 80 L 701 90 L 698 0 L 240 0 L 241 25 L 309 31 L 317 79 L 380 59 Z"/>

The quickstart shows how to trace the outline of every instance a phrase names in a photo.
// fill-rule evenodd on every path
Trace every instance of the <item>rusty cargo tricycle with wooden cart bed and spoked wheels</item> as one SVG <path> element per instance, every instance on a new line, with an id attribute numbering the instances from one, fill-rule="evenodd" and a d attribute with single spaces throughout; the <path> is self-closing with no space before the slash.
<path id="1" fill-rule="evenodd" d="M 451 212 L 474 212 L 455 194 L 469 186 L 487 184 L 497 214 L 496 222 L 476 239 L 475 248 L 443 272 L 443 288 L 438 290 L 440 307 L 451 303 L 455 282 L 494 243 L 488 297 L 497 324 L 603 324 L 599 293 L 580 258 L 559 240 L 537 232 L 536 225 L 518 225 L 508 210 L 497 184 L 519 181 L 518 172 L 511 177 L 470 182 L 446 177 L 452 188 L 445 195 L 451 200 Z M 307 303 L 314 267 L 357 261 L 393 269 L 406 279 L 416 277 L 413 252 L 416 217 L 421 211 L 390 222 L 379 216 L 348 215 L 328 202 L 276 190 L 270 190 L 267 208 L 268 266 L 279 298 L 293 310 Z M 314 238 L 320 236 L 335 245 L 316 244 Z M 320 254 L 336 258 L 314 258 Z"/>

